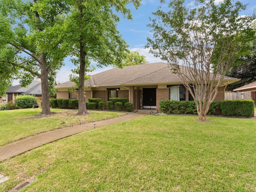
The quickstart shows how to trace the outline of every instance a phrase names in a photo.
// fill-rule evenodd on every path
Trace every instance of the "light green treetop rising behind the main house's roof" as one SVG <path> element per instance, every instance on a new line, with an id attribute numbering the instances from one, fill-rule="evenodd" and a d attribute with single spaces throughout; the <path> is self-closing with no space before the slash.
<path id="1" fill-rule="evenodd" d="M 123 66 L 139 65 L 144 63 L 148 63 L 146 61 L 146 56 L 140 55 L 138 51 L 130 51 L 126 52 L 126 58 L 123 61 Z"/>

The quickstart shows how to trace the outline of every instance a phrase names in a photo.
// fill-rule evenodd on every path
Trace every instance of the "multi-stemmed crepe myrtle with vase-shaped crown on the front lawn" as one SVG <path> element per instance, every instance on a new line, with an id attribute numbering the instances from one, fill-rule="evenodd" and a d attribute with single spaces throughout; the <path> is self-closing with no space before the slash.
<path id="1" fill-rule="evenodd" d="M 165 3 L 164 0 L 161 0 Z M 206 121 L 218 87 L 239 52 L 247 49 L 254 32 L 254 16 L 239 16 L 246 5 L 239 1 L 171 0 L 150 18 L 153 37 L 146 47 L 166 60 L 178 74 L 197 106 L 199 121 Z"/>

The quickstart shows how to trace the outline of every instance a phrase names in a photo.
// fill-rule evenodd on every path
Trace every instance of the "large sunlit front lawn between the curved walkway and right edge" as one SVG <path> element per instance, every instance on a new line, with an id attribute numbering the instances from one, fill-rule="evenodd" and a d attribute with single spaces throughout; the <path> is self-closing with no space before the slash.
<path id="1" fill-rule="evenodd" d="M 256 120 L 143 116 L 0 163 L 6 191 L 256 191 Z"/>

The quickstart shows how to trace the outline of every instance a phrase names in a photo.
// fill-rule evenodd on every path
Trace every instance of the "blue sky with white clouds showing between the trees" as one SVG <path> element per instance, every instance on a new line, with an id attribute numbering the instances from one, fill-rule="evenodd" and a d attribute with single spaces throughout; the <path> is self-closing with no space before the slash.
<path id="1" fill-rule="evenodd" d="M 216 3 L 220 1 L 222 0 L 216 0 Z M 256 8 L 256 0 L 240 1 L 244 4 L 249 3 L 249 5 L 247 6 L 247 10 L 242 12 L 241 14 L 252 14 L 253 9 Z M 169 1 L 166 0 L 166 2 Z M 190 2 L 193 1 L 190 0 Z M 120 18 L 120 22 L 117 26 L 118 30 L 120 31 L 120 34 L 122 34 L 123 39 L 129 45 L 129 50 L 138 51 L 141 55 L 146 56 L 146 60 L 149 63 L 163 62 L 162 60 L 160 60 L 160 58 L 155 58 L 152 54 L 148 53 L 149 49 L 144 48 L 145 45 L 147 44 L 147 37 L 152 37 L 150 28 L 147 27 L 147 24 L 150 23 L 149 17 L 152 17 L 152 12 L 155 12 L 158 9 L 158 6 L 160 5 L 163 6 L 163 4 L 160 4 L 160 0 L 142 0 L 142 5 L 138 8 L 138 10 L 135 10 L 133 6 L 129 6 L 129 8 L 131 8 L 132 10 L 133 20 Z M 57 74 L 57 83 L 64 83 L 69 81 L 69 74 L 71 73 L 70 70 L 74 68 L 74 66 L 68 58 L 64 62 L 65 66 L 63 66 Z M 90 74 L 96 74 L 111 68 L 111 66 L 107 68 L 98 68 Z"/>

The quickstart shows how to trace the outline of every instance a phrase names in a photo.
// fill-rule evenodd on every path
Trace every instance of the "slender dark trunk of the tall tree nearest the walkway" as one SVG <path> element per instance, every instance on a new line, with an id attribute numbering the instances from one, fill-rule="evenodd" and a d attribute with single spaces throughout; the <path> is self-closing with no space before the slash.
<path id="1" fill-rule="evenodd" d="M 85 57 L 84 46 L 82 40 L 80 40 L 80 68 L 79 68 L 79 86 L 78 86 L 78 112 L 77 115 L 88 114 L 85 104 L 84 97 L 84 68 L 85 68 Z"/>

